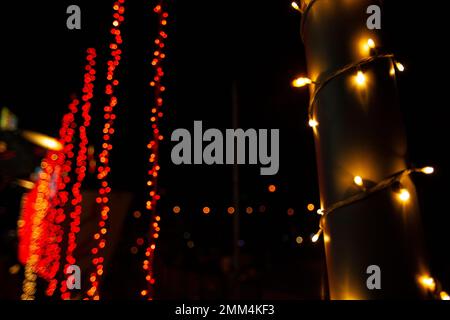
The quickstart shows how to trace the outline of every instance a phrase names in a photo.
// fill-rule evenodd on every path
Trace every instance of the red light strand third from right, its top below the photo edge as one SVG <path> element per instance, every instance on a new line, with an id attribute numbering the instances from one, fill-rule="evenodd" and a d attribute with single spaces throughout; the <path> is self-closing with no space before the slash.
<path id="1" fill-rule="evenodd" d="M 91 124 L 91 100 L 94 97 L 94 81 L 95 81 L 95 58 L 96 51 L 94 48 L 87 49 L 87 64 L 85 67 L 84 74 L 84 85 L 83 85 L 83 96 L 81 100 L 83 101 L 83 106 L 81 107 L 81 117 L 83 123 L 79 127 L 79 146 L 78 153 L 76 158 L 76 181 L 72 186 L 72 201 L 71 205 L 73 210 L 69 214 L 70 225 L 69 225 L 69 233 L 67 236 L 67 248 L 66 248 L 66 264 L 64 266 L 64 271 L 67 269 L 69 265 L 76 264 L 76 258 L 73 255 L 74 250 L 77 247 L 76 244 L 76 236 L 80 231 L 80 216 L 81 216 L 81 203 L 83 201 L 83 196 L 80 192 L 83 181 L 86 177 L 87 171 L 87 152 L 88 152 L 88 143 L 89 139 L 87 136 L 87 129 Z M 72 135 L 73 137 L 73 135 Z M 72 155 L 73 157 L 73 152 Z M 68 179 L 70 179 L 68 177 Z M 65 274 L 65 272 L 64 272 Z M 61 281 L 61 298 L 62 299 L 70 299 L 70 292 L 67 291 L 66 281 Z"/>

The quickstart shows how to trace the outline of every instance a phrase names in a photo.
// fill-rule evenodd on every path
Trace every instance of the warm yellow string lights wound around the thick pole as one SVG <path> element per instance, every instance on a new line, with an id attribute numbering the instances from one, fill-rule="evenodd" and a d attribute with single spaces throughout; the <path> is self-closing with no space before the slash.
<path id="1" fill-rule="evenodd" d="M 304 39 L 304 29 L 305 29 L 305 21 L 307 20 L 306 17 L 308 13 L 310 12 L 310 9 L 312 8 L 313 4 L 316 3 L 317 0 L 302 0 L 300 5 L 298 5 L 296 2 L 292 2 L 292 7 L 301 12 L 303 14 L 302 24 L 301 24 L 301 37 Z M 372 62 L 379 60 L 379 59 L 389 59 L 391 60 L 391 70 L 389 74 L 391 76 L 395 75 L 395 70 L 398 70 L 399 72 L 403 72 L 405 70 L 405 67 L 398 61 L 396 61 L 395 56 L 393 54 L 380 54 L 378 52 L 378 48 L 376 47 L 375 41 L 373 39 L 368 39 L 366 44 L 364 45 L 366 51 L 370 53 L 370 56 L 364 59 L 361 59 L 357 62 L 348 64 L 331 74 L 322 74 L 319 75 L 318 79 L 311 80 L 307 77 L 300 77 L 295 79 L 292 82 L 292 85 L 294 87 L 303 87 L 306 85 L 314 86 L 312 89 L 312 94 L 309 102 L 309 108 L 308 108 L 308 117 L 309 121 L 308 124 L 310 127 L 315 129 L 319 123 L 316 119 L 314 119 L 314 106 L 316 105 L 317 97 L 319 96 L 319 93 L 322 91 L 322 89 L 330 83 L 332 80 L 336 79 L 337 77 L 340 77 L 344 74 L 347 74 L 349 72 L 357 71 L 356 75 L 354 76 L 354 82 L 355 84 L 362 88 L 366 84 L 366 76 L 363 72 L 363 67 L 371 64 Z M 321 208 L 317 210 L 317 213 L 321 215 L 321 219 L 319 222 L 319 231 L 315 233 L 311 240 L 312 242 L 317 242 L 320 238 L 320 235 L 324 231 L 324 224 L 326 217 L 331 214 L 332 212 L 343 208 L 345 206 L 350 206 L 356 202 L 362 201 L 364 199 L 367 199 L 368 197 L 372 196 L 373 194 L 385 190 L 387 188 L 392 187 L 393 192 L 397 194 L 397 198 L 402 203 L 407 203 L 410 200 L 411 194 L 410 192 L 403 187 L 401 180 L 405 176 L 409 176 L 412 173 L 423 173 L 423 174 L 432 174 L 434 173 L 433 167 L 424 167 L 424 168 L 413 168 L 413 169 L 405 169 L 398 173 L 393 174 L 392 176 L 380 181 L 373 187 L 368 187 L 366 185 L 366 181 L 361 176 L 356 176 L 353 179 L 353 182 L 356 186 L 359 187 L 360 192 L 356 193 L 353 196 L 350 196 L 344 200 L 338 201 L 328 208 Z M 442 290 L 442 287 L 440 284 L 437 284 L 437 282 L 430 276 L 422 275 L 418 279 L 419 284 L 424 287 L 434 298 L 436 299 L 442 299 L 442 300 L 449 300 L 450 296 Z"/>

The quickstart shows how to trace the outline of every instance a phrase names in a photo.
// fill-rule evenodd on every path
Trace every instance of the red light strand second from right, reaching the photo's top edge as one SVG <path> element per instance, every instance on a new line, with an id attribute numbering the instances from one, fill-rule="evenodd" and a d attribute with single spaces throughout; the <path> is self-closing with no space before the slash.
<path id="1" fill-rule="evenodd" d="M 92 253 L 92 265 L 94 267 L 94 271 L 89 276 L 90 288 L 87 290 L 87 298 L 99 300 L 99 279 L 103 275 L 103 250 L 106 247 L 106 233 L 108 231 L 108 217 L 110 214 L 110 178 L 109 174 L 111 172 L 111 168 L 109 165 L 110 160 L 110 152 L 112 150 L 112 142 L 111 138 L 114 134 L 114 120 L 116 119 L 116 114 L 114 113 L 114 109 L 117 106 L 118 99 L 115 95 L 115 89 L 119 85 L 119 80 L 115 78 L 116 68 L 120 64 L 122 50 L 122 36 L 120 31 L 120 26 L 124 22 L 124 7 L 125 0 L 118 0 L 113 4 L 113 27 L 110 32 L 114 36 L 113 41 L 109 45 L 111 57 L 107 62 L 107 73 L 106 80 L 107 84 L 105 87 L 105 93 L 108 99 L 108 104 L 104 107 L 104 127 L 103 127 L 103 143 L 101 146 L 101 152 L 99 155 L 99 166 L 98 166 L 98 174 L 97 179 L 100 183 L 100 187 L 98 190 L 98 196 L 96 198 L 97 204 L 100 206 L 100 221 L 98 222 L 98 232 L 94 234 L 95 245 L 91 249 Z"/>

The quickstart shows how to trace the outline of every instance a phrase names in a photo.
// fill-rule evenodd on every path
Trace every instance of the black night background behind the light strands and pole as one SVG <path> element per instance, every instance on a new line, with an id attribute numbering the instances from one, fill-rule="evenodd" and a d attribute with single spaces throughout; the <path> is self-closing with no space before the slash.
<path id="1" fill-rule="evenodd" d="M 245 3 L 245 4 L 244 4 Z M 82 30 L 66 28 L 66 8 L 82 9 Z M 118 68 L 117 135 L 112 154 L 115 190 L 134 194 L 126 228 L 110 273 L 106 296 L 135 297 L 142 280 L 142 257 L 130 248 L 146 229 L 132 212 L 145 203 L 146 143 L 152 106 L 148 82 L 156 20 L 152 1 L 128 0 L 123 25 L 123 60 Z M 112 1 L 15 1 L 0 7 L 0 107 L 19 118 L 22 129 L 56 136 L 69 97 L 82 85 L 85 50 L 93 46 L 99 62 L 93 115 L 99 119 L 105 101 L 104 64 L 110 40 Z M 441 8 L 440 8 L 441 7 Z M 440 8 L 440 9 L 439 9 Z M 299 35 L 300 15 L 290 1 L 174 1 L 169 4 L 166 60 L 167 103 L 161 129 L 163 216 L 157 254 L 162 298 L 267 297 L 321 298 L 324 254 L 311 244 L 318 218 L 306 210 L 318 204 L 313 136 L 307 121 L 307 90 L 290 81 L 306 72 Z M 408 130 L 410 160 L 433 165 L 436 175 L 417 177 L 426 243 L 433 274 L 450 287 L 447 236 L 450 218 L 445 203 L 450 178 L 447 146 L 449 66 L 448 29 L 443 5 L 419 8 L 411 1 L 385 1 L 383 31 L 388 51 L 396 53 L 407 72 L 399 77 L 400 102 Z M 239 127 L 279 128 L 280 171 L 259 175 L 259 167 L 240 167 L 241 269 L 226 271 L 233 252 L 232 169 L 227 166 L 182 166 L 170 162 L 170 133 L 192 128 L 231 128 L 231 88 L 239 100 Z M 91 136 L 99 137 L 94 120 Z M 98 133 L 98 134 L 96 134 Z M 91 142 L 100 143 L 96 138 Z M 269 193 L 270 184 L 277 186 Z M 87 181 L 95 188 L 94 180 Z M 173 206 L 181 207 L 174 215 Z M 260 206 L 264 212 L 259 212 Z M 204 216 L 202 207 L 211 207 Z M 295 214 L 287 215 L 293 208 Z M 144 220 L 144 219 L 142 219 Z M 297 236 L 304 243 L 295 242 Z M 380 235 L 381 236 L 381 235 Z M 187 241 L 194 247 L 188 248 Z M 124 280 L 127 279 L 127 280 Z M 238 282 L 239 292 L 233 289 Z"/>

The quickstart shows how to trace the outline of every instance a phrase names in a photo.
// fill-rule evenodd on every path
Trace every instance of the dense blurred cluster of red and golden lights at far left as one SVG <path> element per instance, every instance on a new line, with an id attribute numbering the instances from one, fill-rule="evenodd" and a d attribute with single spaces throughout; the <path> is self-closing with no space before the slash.
<path id="1" fill-rule="evenodd" d="M 46 294 L 49 296 L 53 295 L 57 285 L 55 276 L 60 266 L 63 236 L 61 223 L 65 219 L 63 208 L 67 202 L 65 190 L 70 181 L 73 157 L 70 142 L 76 126 L 74 119 L 78 105 L 76 98 L 69 104 L 69 112 L 64 115 L 59 131 L 59 141 L 51 143 L 52 150 L 41 162 L 42 172 L 22 206 L 18 232 L 19 260 L 26 265 L 24 299 L 34 299 L 37 276 L 48 281 Z"/>

